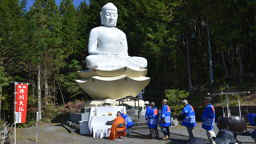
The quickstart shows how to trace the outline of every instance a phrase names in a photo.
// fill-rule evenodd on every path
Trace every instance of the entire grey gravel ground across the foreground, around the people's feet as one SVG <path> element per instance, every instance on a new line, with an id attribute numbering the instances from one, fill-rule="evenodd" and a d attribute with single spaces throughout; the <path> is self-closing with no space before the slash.
<path id="1" fill-rule="evenodd" d="M 202 123 L 196 123 L 194 127 L 193 134 L 195 137 L 201 137 L 203 139 L 208 139 L 205 130 L 202 128 Z M 252 129 L 248 129 L 250 131 Z M 218 128 L 216 124 L 214 125 L 214 131 L 217 135 Z M 184 126 L 177 126 L 170 128 L 170 133 L 188 136 L 187 130 Z M 16 128 L 16 144 L 115 144 L 122 141 L 108 140 L 108 138 L 94 138 L 88 135 L 80 134 L 70 134 L 65 128 L 61 126 L 60 123 L 51 123 L 46 125 L 38 126 L 38 142 L 35 139 L 36 128 Z M 253 144 L 253 139 L 246 135 L 245 132 L 237 136 L 239 141 L 246 144 Z M 149 139 L 149 137 L 144 135 L 132 134 L 131 137 L 127 138 L 125 143 L 129 144 L 142 144 L 142 143 L 157 143 L 166 144 L 167 141 Z M 14 131 L 11 135 L 11 144 L 14 144 Z"/>

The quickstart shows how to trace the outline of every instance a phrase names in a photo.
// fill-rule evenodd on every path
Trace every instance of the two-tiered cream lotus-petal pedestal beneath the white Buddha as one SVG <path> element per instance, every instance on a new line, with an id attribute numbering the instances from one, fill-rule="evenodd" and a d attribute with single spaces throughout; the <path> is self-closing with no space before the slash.
<path id="1" fill-rule="evenodd" d="M 136 97 L 150 82 L 150 78 L 145 77 L 147 69 L 133 70 L 126 66 L 111 71 L 94 68 L 78 74 L 82 79 L 75 80 L 76 83 L 92 99 Z"/>

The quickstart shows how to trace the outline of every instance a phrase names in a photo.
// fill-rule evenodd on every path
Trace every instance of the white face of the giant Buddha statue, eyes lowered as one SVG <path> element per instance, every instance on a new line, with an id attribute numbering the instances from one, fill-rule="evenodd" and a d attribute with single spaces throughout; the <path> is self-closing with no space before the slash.
<path id="1" fill-rule="evenodd" d="M 100 15 L 102 12 L 100 13 Z M 114 27 L 117 23 L 117 11 L 116 10 L 105 10 L 104 15 L 101 15 L 103 19 L 104 26 Z"/>

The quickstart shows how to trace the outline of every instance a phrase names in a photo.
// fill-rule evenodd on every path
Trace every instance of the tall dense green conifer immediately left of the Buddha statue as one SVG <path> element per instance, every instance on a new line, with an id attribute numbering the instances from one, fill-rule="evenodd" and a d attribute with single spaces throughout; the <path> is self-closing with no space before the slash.
<path id="1" fill-rule="evenodd" d="M 87 9 L 86 1 L 80 2 L 77 10 L 75 10 L 73 0 L 62 0 L 60 3 L 63 25 L 61 37 L 65 65 L 57 79 L 62 83 L 62 87 L 70 99 L 77 99 L 77 95 L 83 96 L 84 94 L 75 80 L 80 79 L 77 71 L 83 70 L 82 65 L 85 65 L 85 57 L 87 56 L 87 51 L 85 51 L 87 50 L 89 35 Z"/>

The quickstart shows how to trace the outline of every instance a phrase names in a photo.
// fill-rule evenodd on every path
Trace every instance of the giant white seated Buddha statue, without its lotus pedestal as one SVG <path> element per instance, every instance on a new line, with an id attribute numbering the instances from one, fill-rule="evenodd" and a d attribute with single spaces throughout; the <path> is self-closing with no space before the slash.
<path id="1" fill-rule="evenodd" d="M 116 28 L 117 7 L 108 3 L 100 12 L 101 27 L 95 27 L 89 35 L 86 65 L 89 71 L 93 68 L 116 70 L 127 66 L 138 70 L 147 67 L 147 60 L 142 57 L 128 56 L 126 35 Z"/>

